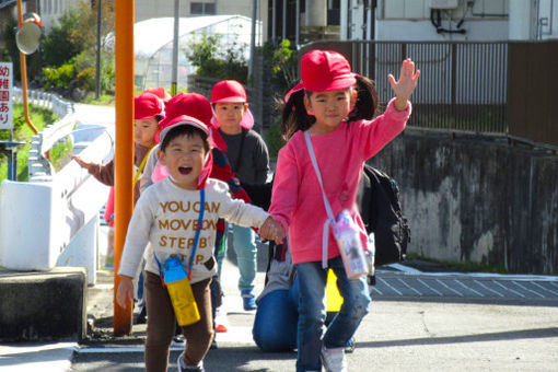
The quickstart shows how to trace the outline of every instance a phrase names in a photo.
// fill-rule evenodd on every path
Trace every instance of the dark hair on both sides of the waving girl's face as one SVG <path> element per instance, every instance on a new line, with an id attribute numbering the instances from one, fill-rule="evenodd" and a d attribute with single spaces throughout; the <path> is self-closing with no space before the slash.
<path id="1" fill-rule="evenodd" d="M 376 86 L 375 83 L 367 77 L 357 75 L 356 78 L 357 84 L 353 89 L 357 91 L 357 102 L 349 113 L 348 120 L 370 120 L 377 114 L 379 98 Z M 297 130 L 306 130 L 316 121 L 314 116 L 306 114 L 304 94 L 310 96 L 312 93 L 301 89 L 292 93 L 288 102 L 279 104 L 279 109 L 282 113 L 281 136 L 286 140 L 291 138 Z"/>

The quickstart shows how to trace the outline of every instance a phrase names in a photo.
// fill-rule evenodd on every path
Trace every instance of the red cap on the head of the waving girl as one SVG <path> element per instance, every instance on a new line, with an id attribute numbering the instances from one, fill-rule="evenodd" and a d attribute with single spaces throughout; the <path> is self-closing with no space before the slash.
<path id="1" fill-rule="evenodd" d="M 311 50 L 300 62 L 302 84 L 309 92 L 347 89 L 357 83 L 349 61 L 337 51 Z"/>

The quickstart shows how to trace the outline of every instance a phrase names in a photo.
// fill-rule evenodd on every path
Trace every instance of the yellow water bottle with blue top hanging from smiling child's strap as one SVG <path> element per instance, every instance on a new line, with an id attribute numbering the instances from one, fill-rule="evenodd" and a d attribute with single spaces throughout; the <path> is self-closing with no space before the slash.
<path id="1" fill-rule="evenodd" d="M 181 260 L 171 256 L 164 263 L 164 282 L 173 303 L 174 314 L 179 326 L 187 326 L 200 319 L 198 304 L 191 292 L 188 275 Z"/>

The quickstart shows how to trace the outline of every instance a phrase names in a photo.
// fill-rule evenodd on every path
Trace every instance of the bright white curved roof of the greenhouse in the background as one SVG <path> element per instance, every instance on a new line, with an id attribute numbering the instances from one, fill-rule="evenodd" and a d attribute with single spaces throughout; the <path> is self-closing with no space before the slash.
<path id="1" fill-rule="evenodd" d="M 252 20 L 243 15 L 206 15 L 178 19 L 178 37 L 202 28 L 236 21 L 249 25 Z M 248 27 L 249 31 L 249 27 Z M 133 25 L 133 50 L 136 56 L 151 57 L 174 37 L 174 18 L 159 18 Z"/>

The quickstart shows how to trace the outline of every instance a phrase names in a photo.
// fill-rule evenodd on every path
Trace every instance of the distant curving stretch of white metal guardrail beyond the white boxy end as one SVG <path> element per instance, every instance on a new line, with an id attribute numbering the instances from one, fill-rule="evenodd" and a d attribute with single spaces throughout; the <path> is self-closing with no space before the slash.
<path id="1" fill-rule="evenodd" d="M 23 102 L 23 93 L 20 88 L 13 89 L 14 102 Z M 47 159 L 46 153 L 53 149 L 56 142 L 69 136 L 75 126 L 73 117 L 73 103 L 59 97 L 54 93 L 27 91 L 28 103 L 49 108 L 53 113 L 60 117 L 60 120 L 48 125 L 42 132 L 35 135 L 31 139 L 31 149 L 27 159 L 27 168 L 30 181 L 39 177 L 49 176 L 54 173 L 53 164 Z"/>

